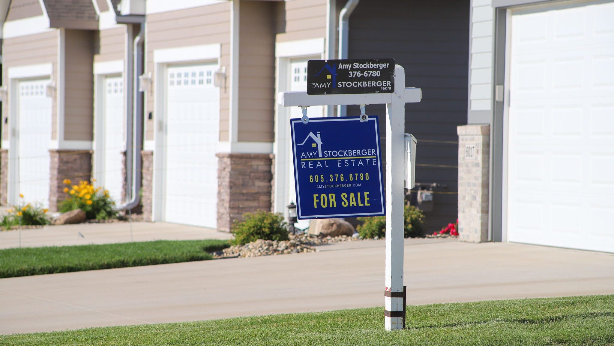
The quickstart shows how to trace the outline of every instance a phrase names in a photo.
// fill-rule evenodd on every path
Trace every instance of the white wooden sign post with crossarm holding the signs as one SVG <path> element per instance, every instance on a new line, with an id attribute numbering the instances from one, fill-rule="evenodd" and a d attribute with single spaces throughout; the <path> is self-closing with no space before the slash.
<path id="1" fill-rule="evenodd" d="M 339 104 L 386 104 L 386 330 L 403 328 L 403 191 L 405 177 L 405 103 L 420 102 L 420 88 L 405 87 L 405 69 L 395 65 L 394 93 L 307 95 L 280 92 L 282 106 L 334 106 Z"/>

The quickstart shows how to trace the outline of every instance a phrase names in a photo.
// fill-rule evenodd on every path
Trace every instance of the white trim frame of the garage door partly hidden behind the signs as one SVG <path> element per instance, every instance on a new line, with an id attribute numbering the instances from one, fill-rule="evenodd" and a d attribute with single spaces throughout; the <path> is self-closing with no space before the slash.
<path id="1" fill-rule="evenodd" d="M 324 59 L 325 40 L 324 37 L 317 39 L 306 39 L 300 41 L 279 42 L 275 44 L 275 98 L 279 92 L 288 91 L 290 61 L 300 58 Z M 332 108 L 327 108 L 331 109 Z M 328 114 L 332 116 L 332 114 Z M 288 192 L 286 191 L 289 169 L 287 165 L 282 165 L 279 158 L 289 157 L 290 143 L 288 140 L 280 138 L 280 134 L 290 127 L 290 109 L 280 106 L 275 100 L 275 143 L 273 146 L 274 177 L 273 177 L 273 211 L 282 213 L 286 217 L 286 203 Z"/>

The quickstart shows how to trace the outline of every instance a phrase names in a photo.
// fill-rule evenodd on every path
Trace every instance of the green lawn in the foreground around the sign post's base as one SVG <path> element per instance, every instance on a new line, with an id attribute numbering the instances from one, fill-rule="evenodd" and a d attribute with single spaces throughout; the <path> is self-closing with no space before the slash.
<path id="1" fill-rule="evenodd" d="M 614 295 L 382 308 L 0 336 L 1 345 L 614 345 Z"/>

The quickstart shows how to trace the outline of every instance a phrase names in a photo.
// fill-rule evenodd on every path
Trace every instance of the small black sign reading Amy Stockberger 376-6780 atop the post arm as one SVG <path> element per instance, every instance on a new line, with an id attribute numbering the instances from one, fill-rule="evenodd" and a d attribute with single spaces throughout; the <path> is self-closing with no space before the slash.
<path id="1" fill-rule="evenodd" d="M 394 92 L 394 59 L 307 61 L 307 94 Z"/>

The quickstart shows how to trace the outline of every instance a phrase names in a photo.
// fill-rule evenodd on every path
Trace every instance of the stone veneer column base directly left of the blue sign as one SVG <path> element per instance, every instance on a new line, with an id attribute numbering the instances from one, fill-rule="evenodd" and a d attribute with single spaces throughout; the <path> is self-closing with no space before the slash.
<path id="1" fill-rule="evenodd" d="M 217 154 L 217 229 L 230 232 L 244 213 L 271 210 L 270 154 Z"/>

